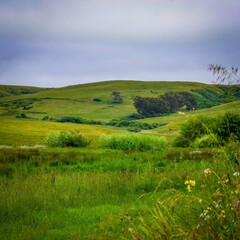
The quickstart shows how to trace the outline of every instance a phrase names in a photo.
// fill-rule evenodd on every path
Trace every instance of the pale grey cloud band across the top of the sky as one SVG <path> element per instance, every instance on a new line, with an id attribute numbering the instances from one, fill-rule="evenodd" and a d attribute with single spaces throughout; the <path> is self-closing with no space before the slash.
<path id="1" fill-rule="evenodd" d="M 1 8 L 2 34 L 36 38 L 133 41 L 174 41 L 178 38 L 178 41 L 187 41 L 240 22 L 240 16 L 235 14 L 240 3 L 233 0 L 227 4 L 219 0 L 217 4 L 204 0 L 39 2 L 41 4 L 36 5 L 36 1 L 27 1 L 25 8 L 11 7 L 13 4 Z"/>

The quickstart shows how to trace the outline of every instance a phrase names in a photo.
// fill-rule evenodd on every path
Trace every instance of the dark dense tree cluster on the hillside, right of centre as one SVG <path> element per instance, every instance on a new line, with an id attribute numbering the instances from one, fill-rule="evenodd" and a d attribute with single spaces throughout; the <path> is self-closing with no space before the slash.
<path id="1" fill-rule="evenodd" d="M 136 96 L 133 98 L 133 104 L 143 116 L 159 116 L 174 113 L 182 107 L 186 110 L 197 107 L 196 100 L 188 92 L 167 92 L 156 98 Z"/>

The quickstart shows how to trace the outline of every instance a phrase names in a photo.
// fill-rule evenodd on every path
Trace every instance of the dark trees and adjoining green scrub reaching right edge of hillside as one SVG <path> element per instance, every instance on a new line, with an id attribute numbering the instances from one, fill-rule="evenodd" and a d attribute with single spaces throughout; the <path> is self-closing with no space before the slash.
<path id="1" fill-rule="evenodd" d="M 219 104 L 240 99 L 240 86 L 218 86 L 220 92 L 209 89 L 194 89 L 189 92 L 167 92 L 159 97 L 133 98 L 133 104 L 139 114 L 145 117 L 161 116 L 179 110 L 210 108 Z"/>

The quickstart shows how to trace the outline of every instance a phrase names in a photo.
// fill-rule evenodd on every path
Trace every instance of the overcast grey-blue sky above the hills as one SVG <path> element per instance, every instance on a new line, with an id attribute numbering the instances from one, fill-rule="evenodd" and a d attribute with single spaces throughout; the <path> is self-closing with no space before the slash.
<path id="1" fill-rule="evenodd" d="M 239 0 L 0 0 L 0 84 L 211 83 L 240 67 Z"/>

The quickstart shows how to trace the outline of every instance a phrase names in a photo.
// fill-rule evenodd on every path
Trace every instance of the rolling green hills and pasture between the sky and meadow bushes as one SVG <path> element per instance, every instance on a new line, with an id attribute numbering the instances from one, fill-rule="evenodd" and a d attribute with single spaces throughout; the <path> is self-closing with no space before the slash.
<path id="1" fill-rule="evenodd" d="M 233 91 L 232 87 L 202 83 L 107 81 L 56 89 L 14 86 L 1 86 L 1 89 L 5 89 L 5 92 L 6 89 L 11 89 L 12 92 L 22 91 L 20 89 L 37 92 L 29 94 L 22 92 L 18 95 L 12 94 L 0 98 L 0 145 L 42 144 L 44 137 L 49 132 L 58 130 L 78 129 L 96 140 L 102 134 L 125 131 L 126 128 L 63 124 L 49 121 L 49 119 L 48 121 L 41 120 L 44 116 L 55 120 L 64 116 L 71 116 L 105 122 L 120 119 L 136 113 L 133 106 L 133 97 L 157 97 L 168 91 L 190 92 L 201 104 L 204 105 L 205 103 L 208 108 L 189 111 L 184 114 L 175 113 L 168 116 L 135 120 L 136 123 L 159 124 L 155 129 L 142 130 L 142 133 L 166 136 L 168 141 L 172 142 L 179 133 L 182 124 L 191 117 L 199 115 L 217 116 L 228 110 L 240 111 L 240 101 L 233 101 L 234 98 L 229 94 Z M 237 99 L 239 98 L 239 86 L 236 89 L 235 98 Z M 112 102 L 111 94 L 113 91 L 120 92 L 123 103 Z M 211 104 L 212 107 L 209 108 Z M 20 114 L 25 114 L 29 119 L 16 118 Z"/>

